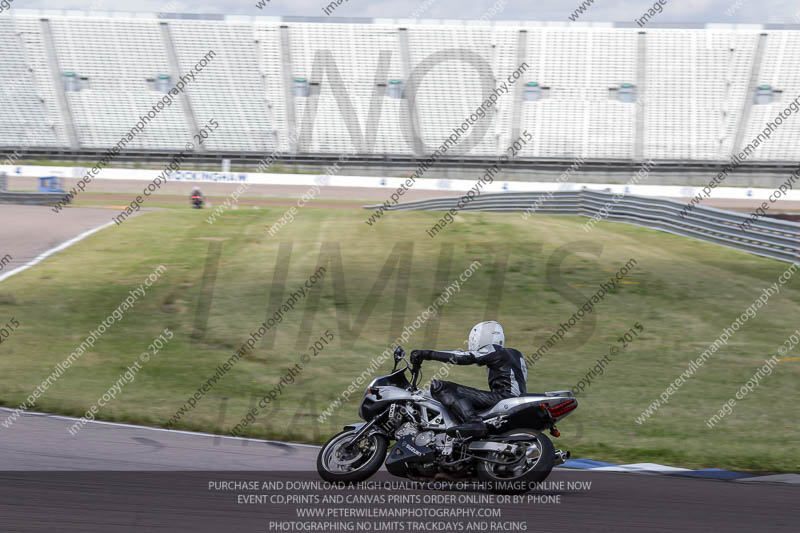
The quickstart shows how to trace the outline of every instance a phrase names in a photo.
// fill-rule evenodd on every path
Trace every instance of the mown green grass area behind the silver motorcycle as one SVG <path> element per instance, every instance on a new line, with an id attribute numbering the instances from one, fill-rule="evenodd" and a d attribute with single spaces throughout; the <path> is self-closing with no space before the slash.
<path id="1" fill-rule="evenodd" d="M 432 302 L 434 287 L 440 290 L 449 284 L 473 260 L 482 268 L 463 284 L 438 320 L 414 334 L 408 350 L 462 347 L 475 322 L 496 318 L 508 344 L 530 354 L 600 282 L 635 258 L 638 265 L 626 283 L 529 368 L 531 391 L 570 388 L 635 322 L 644 325 L 644 333 L 579 396 L 580 408 L 560 424 L 563 435 L 556 439 L 557 446 L 576 457 L 614 462 L 759 472 L 800 469 L 794 406 L 800 361 L 781 362 L 758 389 L 738 402 L 732 415 L 714 429 L 705 426 L 800 326 L 800 288 L 794 279 L 669 405 L 642 425 L 634 422 L 763 287 L 777 280 L 785 263 L 624 224 L 604 222 L 584 233 L 586 219 L 578 217 L 537 215 L 524 221 L 515 215 L 469 213 L 430 239 L 425 229 L 438 219 L 435 213 L 391 213 L 369 227 L 363 222 L 366 211 L 307 208 L 270 238 L 266 228 L 283 209 L 229 211 L 213 226 L 205 222 L 209 212 L 184 206 L 147 213 L 0 284 L 0 323 L 13 316 L 21 324 L 0 345 L 0 403 L 16 407 L 24 401 L 129 290 L 163 264 L 167 271 L 147 296 L 35 408 L 80 416 L 168 327 L 175 338 L 98 415 L 164 425 L 265 319 L 281 243 L 291 243 L 284 298 L 312 273 L 321 243 L 338 243 L 338 281 L 343 281 L 339 293 L 333 289 L 335 269 L 328 263 L 328 274 L 315 289 L 316 314 L 306 301 L 287 313 L 276 327 L 274 344 L 262 344 L 245 356 L 176 426 L 229 432 L 255 398 L 274 387 L 313 340 L 331 330 L 333 344 L 304 368 L 247 433 L 320 443 L 343 424 L 356 421 L 362 387 L 324 424 L 316 422 L 317 415 Z M 222 239 L 222 255 L 208 329 L 193 345 L 204 262 L 213 242 L 207 238 Z M 408 276 L 403 278 L 408 285 L 405 314 L 393 320 L 396 270 L 385 287 L 379 284 L 383 292 L 371 300 L 371 312 L 362 313 L 395 246 L 411 250 Z M 449 270 L 443 267 L 448 257 Z M 384 366 L 388 371 L 390 365 Z M 424 371 L 430 376 L 437 368 L 430 364 Z M 481 368 L 457 367 L 449 379 L 485 388 L 485 376 Z"/>

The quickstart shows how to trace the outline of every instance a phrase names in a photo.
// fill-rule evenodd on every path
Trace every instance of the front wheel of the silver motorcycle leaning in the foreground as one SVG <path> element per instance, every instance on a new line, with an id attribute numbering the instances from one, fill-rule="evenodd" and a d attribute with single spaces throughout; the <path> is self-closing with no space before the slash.
<path id="1" fill-rule="evenodd" d="M 345 444 L 356 430 L 347 430 L 335 435 L 319 451 L 317 472 L 325 481 L 332 483 L 358 483 L 372 476 L 381 467 L 386 457 L 389 441 L 383 435 L 365 435 L 345 449 Z"/>

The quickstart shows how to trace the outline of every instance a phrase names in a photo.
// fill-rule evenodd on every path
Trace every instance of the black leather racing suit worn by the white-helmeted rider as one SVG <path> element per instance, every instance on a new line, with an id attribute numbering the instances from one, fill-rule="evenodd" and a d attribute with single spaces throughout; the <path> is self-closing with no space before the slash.
<path id="1" fill-rule="evenodd" d="M 485 366 L 489 373 L 489 388 L 482 391 L 452 381 L 434 379 L 431 394 L 442 402 L 460 422 L 480 420 L 476 410 L 492 407 L 500 400 L 525 394 L 528 369 L 522 354 L 513 348 L 490 344 L 470 351 L 427 351 L 426 359 L 455 365 Z"/>

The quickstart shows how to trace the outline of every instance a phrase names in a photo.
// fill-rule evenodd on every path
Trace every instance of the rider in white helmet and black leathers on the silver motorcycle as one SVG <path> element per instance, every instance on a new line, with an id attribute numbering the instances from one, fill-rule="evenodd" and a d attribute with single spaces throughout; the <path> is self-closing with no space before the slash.
<path id="1" fill-rule="evenodd" d="M 481 322 L 472 328 L 468 348 L 466 351 L 414 350 L 411 352 L 411 364 L 418 366 L 423 360 L 429 360 L 486 367 L 491 391 L 482 391 L 451 381 L 431 381 L 434 399 L 447 407 L 461 422 L 460 425 L 449 428 L 448 435 L 482 437 L 486 435 L 487 428 L 476 410 L 488 409 L 500 400 L 525 394 L 528 369 L 518 350 L 505 347 L 503 328 L 493 320 Z"/>

